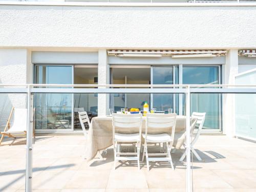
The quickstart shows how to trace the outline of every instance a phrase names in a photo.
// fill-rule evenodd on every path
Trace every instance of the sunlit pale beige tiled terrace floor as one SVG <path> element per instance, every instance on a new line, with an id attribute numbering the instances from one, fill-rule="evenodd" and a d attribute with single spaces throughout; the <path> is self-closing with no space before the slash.
<path id="1" fill-rule="evenodd" d="M 0 146 L 0 191 L 25 190 L 25 139 Z M 104 159 L 84 160 L 83 136 L 37 136 L 33 152 L 33 191 L 185 191 L 183 150 L 172 154 L 175 170 L 166 163 L 120 162 L 113 169 L 113 149 Z M 256 191 L 256 143 L 227 136 L 200 136 L 193 159 L 194 191 Z"/>

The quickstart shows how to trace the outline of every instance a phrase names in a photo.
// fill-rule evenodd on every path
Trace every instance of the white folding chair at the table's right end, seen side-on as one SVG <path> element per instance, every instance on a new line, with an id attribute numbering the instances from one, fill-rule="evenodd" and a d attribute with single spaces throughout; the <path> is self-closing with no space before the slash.
<path id="1" fill-rule="evenodd" d="M 206 113 L 197 113 L 197 112 L 193 112 L 192 113 L 192 118 L 196 118 L 196 127 L 198 127 L 198 131 L 197 134 L 195 135 L 194 139 L 192 139 L 191 141 L 191 153 L 194 154 L 196 156 L 196 158 L 199 161 L 202 161 L 201 157 L 198 155 L 198 153 L 196 152 L 196 150 L 194 150 L 193 146 L 195 145 L 195 143 L 197 142 L 200 133 L 202 131 L 203 125 L 204 125 L 204 120 L 205 120 L 205 115 Z M 194 130 L 191 130 L 191 132 L 193 133 Z M 186 148 L 186 143 L 183 144 L 183 146 Z M 186 151 L 183 153 L 183 155 L 180 158 L 180 161 L 183 161 L 186 157 Z"/>

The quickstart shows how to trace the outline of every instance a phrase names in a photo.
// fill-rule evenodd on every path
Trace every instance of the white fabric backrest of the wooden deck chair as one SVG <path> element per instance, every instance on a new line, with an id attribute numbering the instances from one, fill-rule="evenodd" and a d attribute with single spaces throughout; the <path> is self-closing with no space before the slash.
<path id="1" fill-rule="evenodd" d="M 27 131 L 27 109 L 14 109 L 14 121 L 10 129 L 12 131 Z"/>

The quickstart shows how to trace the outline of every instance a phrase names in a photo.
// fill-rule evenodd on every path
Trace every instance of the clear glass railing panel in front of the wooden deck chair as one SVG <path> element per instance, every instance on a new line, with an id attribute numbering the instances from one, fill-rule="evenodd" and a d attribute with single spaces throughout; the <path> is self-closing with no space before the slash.
<path id="1" fill-rule="evenodd" d="M 0 191 L 25 189 L 26 109 L 27 94 L 0 93 Z"/>

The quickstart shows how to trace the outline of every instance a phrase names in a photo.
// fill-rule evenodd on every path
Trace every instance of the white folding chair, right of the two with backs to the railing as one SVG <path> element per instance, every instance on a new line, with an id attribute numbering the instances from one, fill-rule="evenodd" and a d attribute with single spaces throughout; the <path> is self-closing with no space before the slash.
<path id="1" fill-rule="evenodd" d="M 174 170 L 174 165 L 172 157 L 170 156 L 170 151 L 173 146 L 175 125 L 176 125 L 177 114 L 147 114 L 146 115 L 146 131 L 142 134 L 145 140 L 143 157 L 146 156 L 146 166 L 147 170 L 150 170 L 149 161 L 168 161 L 172 165 Z M 150 129 L 150 131 L 149 131 Z M 154 133 L 155 130 L 161 129 L 163 133 L 161 134 L 148 134 Z M 147 143 L 165 143 L 167 152 L 166 153 L 148 153 Z M 166 156 L 166 157 L 148 157 L 148 156 Z"/>

